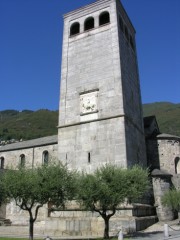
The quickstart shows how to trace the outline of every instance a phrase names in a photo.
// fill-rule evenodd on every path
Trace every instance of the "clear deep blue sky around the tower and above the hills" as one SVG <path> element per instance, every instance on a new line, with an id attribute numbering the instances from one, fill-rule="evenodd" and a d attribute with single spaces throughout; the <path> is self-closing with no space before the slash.
<path id="1" fill-rule="evenodd" d="M 0 110 L 57 110 L 64 13 L 94 0 L 0 0 Z M 180 0 L 122 0 L 143 103 L 180 103 Z"/>

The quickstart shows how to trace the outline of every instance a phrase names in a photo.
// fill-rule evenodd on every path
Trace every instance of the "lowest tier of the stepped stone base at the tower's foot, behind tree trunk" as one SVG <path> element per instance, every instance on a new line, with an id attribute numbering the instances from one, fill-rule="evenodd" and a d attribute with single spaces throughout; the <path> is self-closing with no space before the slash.
<path id="1" fill-rule="evenodd" d="M 132 233 L 146 229 L 158 221 L 157 216 L 143 218 L 137 217 L 112 217 L 109 222 L 110 236 L 116 236 L 120 230 L 123 233 Z M 42 227 L 42 226 L 41 226 Z M 91 236 L 102 237 L 104 221 L 100 217 L 49 219 L 44 223 L 43 233 L 56 237 Z"/>

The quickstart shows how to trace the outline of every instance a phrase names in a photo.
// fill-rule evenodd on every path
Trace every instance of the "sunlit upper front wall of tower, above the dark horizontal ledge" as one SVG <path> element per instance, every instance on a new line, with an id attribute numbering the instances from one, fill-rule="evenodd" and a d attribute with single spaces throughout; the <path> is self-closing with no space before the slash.
<path id="1" fill-rule="evenodd" d="M 97 118 L 124 114 L 115 1 L 100 2 L 65 18 L 59 126 L 81 122 L 80 94 L 93 90 L 98 91 Z M 82 28 L 91 16 L 98 26 L 103 11 L 110 13 L 109 24 L 69 37 L 73 22 Z"/>

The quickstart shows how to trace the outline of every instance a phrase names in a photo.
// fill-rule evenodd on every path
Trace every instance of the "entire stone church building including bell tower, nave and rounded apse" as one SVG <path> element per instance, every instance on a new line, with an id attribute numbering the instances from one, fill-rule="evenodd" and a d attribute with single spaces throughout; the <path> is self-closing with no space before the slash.
<path id="1" fill-rule="evenodd" d="M 161 134 L 154 116 L 143 119 L 135 29 L 119 0 L 97 0 L 64 15 L 60 89 L 57 136 L 0 147 L 1 169 L 31 168 L 51 159 L 86 172 L 106 163 L 123 168 L 139 164 L 153 173 L 154 202 L 126 206 L 112 222 L 125 229 L 145 228 L 157 221 L 154 204 L 160 220 L 173 219 L 161 197 L 173 176 L 179 186 L 180 137 Z M 12 224 L 27 221 L 13 203 L 1 209 L 0 218 Z M 103 229 L 95 213 L 77 209 L 49 216 L 45 206 L 38 222 L 57 236 L 98 236 Z"/>

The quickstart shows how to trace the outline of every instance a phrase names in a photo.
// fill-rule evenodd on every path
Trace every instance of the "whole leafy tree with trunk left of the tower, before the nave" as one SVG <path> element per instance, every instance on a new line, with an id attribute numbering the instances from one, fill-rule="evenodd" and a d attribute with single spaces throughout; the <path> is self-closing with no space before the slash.
<path id="1" fill-rule="evenodd" d="M 34 222 L 39 209 L 49 201 L 64 207 L 73 198 L 73 174 L 62 164 L 51 164 L 36 169 L 8 170 L 0 181 L 3 202 L 14 200 L 29 213 L 29 239 L 33 239 Z"/>

